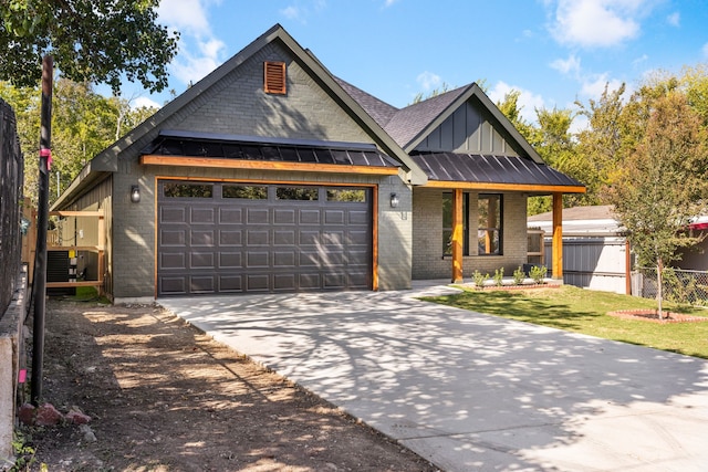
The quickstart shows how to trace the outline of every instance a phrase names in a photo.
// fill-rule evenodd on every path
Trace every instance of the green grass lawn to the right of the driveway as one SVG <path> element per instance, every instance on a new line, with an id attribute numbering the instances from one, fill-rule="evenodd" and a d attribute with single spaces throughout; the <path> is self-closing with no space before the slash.
<path id="1" fill-rule="evenodd" d="M 656 301 L 563 285 L 558 289 L 476 291 L 423 300 L 605 339 L 708 359 L 708 322 L 648 323 L 606 315 L 617 310 L 656 308 Z M 708 310 L 664 303 L 671 312 L 708 316 Z"/>

